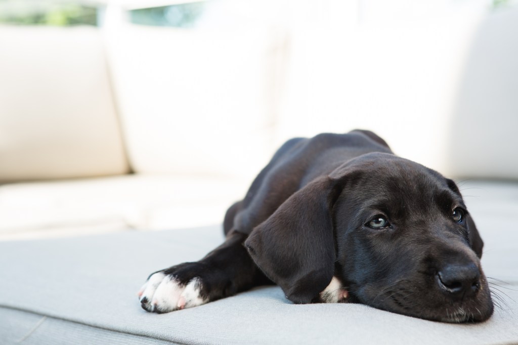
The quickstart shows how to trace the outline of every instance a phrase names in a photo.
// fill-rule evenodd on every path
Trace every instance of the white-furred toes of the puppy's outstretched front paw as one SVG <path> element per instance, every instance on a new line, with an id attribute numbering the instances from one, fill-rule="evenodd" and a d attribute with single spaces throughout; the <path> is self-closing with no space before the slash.
<path id="1" fill-rule="evenodd" d="M 186 285 L 180 284 L 172 275 L 157 272 L 140 288 L 138 296 L 142 308 L 156 313 L 167 313 L 207 303 L 200 296 L 202 280 L 193 278 Z"/>

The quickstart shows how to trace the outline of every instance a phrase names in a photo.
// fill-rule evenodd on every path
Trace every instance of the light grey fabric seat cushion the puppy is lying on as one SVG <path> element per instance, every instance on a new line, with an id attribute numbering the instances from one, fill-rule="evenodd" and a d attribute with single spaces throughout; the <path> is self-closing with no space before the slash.
<path id="1" fill-rule="evenodd" d="M 518 185 L 470 183 L 486 191 L 467 198 L 486 241 L 486 274 L 511 283 L 492 280 L 503 287 L 493 285 L 499 307 L 484 323 L 431 322 L 358 304 L 293 305 L 278 287 L 167 314 L 143 311 L 136 292 L 147 276 L 203 257 L 223 240 L 220 226 L 213 226 L 0 243 L 0 339 L 28 344 L 518 343 L 518 238 L 508 224 L 518 214 Z M 473 191 L 466 194 L 480 195 Z M 492 205 L 493 197 L 501 205 Z"/>

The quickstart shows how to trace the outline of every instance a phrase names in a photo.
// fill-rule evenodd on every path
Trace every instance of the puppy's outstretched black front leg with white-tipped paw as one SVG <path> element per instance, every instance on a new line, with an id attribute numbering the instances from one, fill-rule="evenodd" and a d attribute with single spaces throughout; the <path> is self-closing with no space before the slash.
<path id="1" fill-rule="evenodd" d="M 138 293 L 142 308 L 165 313 L 196 307 L 270 283 L 243 246 L 247 236 L 231 231 L 225 242 L 202 260 L 151 274 Z"/>

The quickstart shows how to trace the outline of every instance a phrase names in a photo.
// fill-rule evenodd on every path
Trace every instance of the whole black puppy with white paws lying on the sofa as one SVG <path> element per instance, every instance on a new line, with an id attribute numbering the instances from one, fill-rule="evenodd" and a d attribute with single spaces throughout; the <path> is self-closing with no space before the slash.
<path id="1" fill-rule="evenodd" d="M 224 231 L 202 260 L 152 274 L 142 308 L 169 312 L 274 282 L 293 303 L 351 301 L 444 322 L 493 313 L 483 242 L 455 183 L 372 132 L 287 141 L 228 209 Z"/>

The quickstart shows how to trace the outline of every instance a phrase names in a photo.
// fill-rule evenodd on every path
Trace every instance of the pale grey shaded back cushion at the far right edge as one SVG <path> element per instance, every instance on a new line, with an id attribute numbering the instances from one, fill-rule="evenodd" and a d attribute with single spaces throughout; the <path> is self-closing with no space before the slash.
<path id="1" fill-rule="evenodd" d="M 453 174 L 518 179 L 518 8 L 485 18 L 472 36 L 450 122 Z"/>

